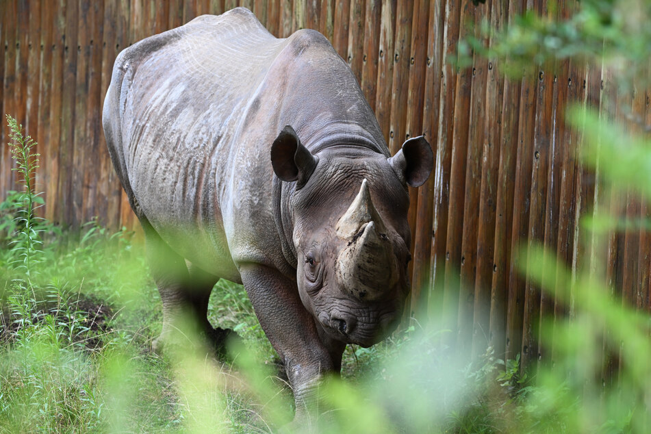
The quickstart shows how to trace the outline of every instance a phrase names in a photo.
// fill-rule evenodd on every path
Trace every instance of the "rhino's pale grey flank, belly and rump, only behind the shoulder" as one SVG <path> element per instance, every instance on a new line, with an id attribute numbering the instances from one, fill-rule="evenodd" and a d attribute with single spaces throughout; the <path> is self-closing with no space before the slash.
<path id="1" fill-rule="evenodd" d="M 136 213 L 203 268 L 229 258 L 216 174 L 227 171 L 238 112 L 281 43 L 238 9 L 147 38 L 116 60 L 104 124 L 118 175 Z M 232 261 L 221 268 L 212 271 L 237 280 Z"/>

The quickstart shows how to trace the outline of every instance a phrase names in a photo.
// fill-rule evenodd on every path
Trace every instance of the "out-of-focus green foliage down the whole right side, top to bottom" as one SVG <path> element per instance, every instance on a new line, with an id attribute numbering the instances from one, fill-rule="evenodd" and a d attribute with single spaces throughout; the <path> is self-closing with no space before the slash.
<path id="1" fill-rule="evenodd" d="M 588 263 L 570 269 L 553 252 L 523 246 L 522 273 L 555 299 L 565 316 L 542 319 L 539 338 L 547 357 L 537 363 L 534 378 L 513 387 L 512 423 L 502 426 L 508 426 L 507 432 L 646 433 L 651 429 L 651 369 L 646 363 L 651 317 L 622 300 L 621 288 L 605 285 L 605 273 L 613 233 L 640 234 L 651 228 L 648 218 L 621 213 L 627 196 L 651 200 L 651 126 L 646 114 L 632 112 L 630 103 L 622 103 L 625 99 L 617 101 L 632 91 L 650 92 L 651 3 L 550 1 L 546 7 L 546 16 L 527 11 L 501 29 L 478 23 L 478 29 L 469 31 L 477 36 L 461 41 L 458 51 L 461 67 L 470 66 L 473 56 L 486 57 L 518 79 L 532 69 L 558 68 L 571 60 L 602 71 L 617 90 L 615 100 L 602 94 L 601 113 L 600 107 L 580 105 L 567 110 L 567 125 L 580 138 L 581 161 L 596 180 L 596 209 L 583 217 L 578 237 Z M 568 104 L 574 103 L 580 101 Z M 507 361 L 511 368 L 504 372 L 515 372 L 513 363 Z"/>

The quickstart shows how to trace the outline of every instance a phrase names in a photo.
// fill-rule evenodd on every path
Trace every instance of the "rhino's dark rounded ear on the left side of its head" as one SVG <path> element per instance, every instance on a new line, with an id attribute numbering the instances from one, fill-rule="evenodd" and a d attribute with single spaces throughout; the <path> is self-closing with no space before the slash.
<path id="1" fill-rule="evenodd" d="M 283 181 L 298 181 L 296 189 L 303 188 L 314 173 L 319 157 L 298 140 L 296 131 L 290 125 L 283 128 L 271 145 L 271 166 Z"/>

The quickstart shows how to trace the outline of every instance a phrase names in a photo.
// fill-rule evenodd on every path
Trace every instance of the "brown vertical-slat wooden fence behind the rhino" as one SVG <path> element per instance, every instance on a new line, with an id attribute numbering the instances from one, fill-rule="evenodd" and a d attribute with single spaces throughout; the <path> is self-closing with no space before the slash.
<path id="1" fill-rule="evenodd" d="M 543 0 L 478 6 L 469 0 L 0 5 L 1 111 L 38 140 L 36 186 L 44 192 L 44 215 L 72 227 L 93 216 L 110 227 L 135 225 L 101 129 L 103 97 L 120 50 L 194 16 L 238 5 L 253 10 L 279 38 L 303 27 L 321 31 L 353 69 L 392 153 L 421 133 L 433 146 L 435 173 L 411 191 L 411 312 L 441 321 L 453 331 L 450 342 L 468 354 L 492 345 L 506 357 L 546 357 L 537 325 L 543 314 L 558 316 L 566 307 L 518 272 L 521 244 L 544 244 L 573 270 L 593 253 L 578 222 L 603 198 L 595 175 L 578 162 L 582 138 L 563 122 L 568 101 L 604 112 L 609 95 L 650 118 L 650 93 L 617 96 L 602 68 L 564 62 L 505 80 L 499 64 L 479 56 L 459 71 L 450 64 L 459 38 L 478 31 L 472 23 L 487 18 L 504 27 L 526 9 L 548 14 Z M 554 14 L 568 16 L 566 8 Z M 1 139 L 8 140 L 6 128 Z M 1 194 L 16 189 L 11 166 L 3 146 Z M 611 206 L 615 214 L 650 215 L 633 192 Z M 605 248 L 604 279 L 639 309 L 650 306 L 650 237 L 641 229 L 613 232 Z"/>

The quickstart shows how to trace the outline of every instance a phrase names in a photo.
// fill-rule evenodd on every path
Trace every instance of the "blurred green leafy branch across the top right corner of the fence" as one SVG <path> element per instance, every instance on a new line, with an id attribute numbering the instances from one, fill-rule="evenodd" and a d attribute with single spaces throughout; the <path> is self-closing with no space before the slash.
<path id="1" fill-rule="evenodd" d="M 649 1 L 548 1 L 546 5 L 546 16 L 527 10 L 513 16 L 505 29 L 495 29 L 487 20 L 472 24 L 478 29 L 469 29 L 470 36 L 459 42 L 458 65 L 470 66 L 476 54 L 520 77 L 523 71 L 554 61 L 572 59 L 597 67 L 603 61 L 622 90 L 630 90 L 634 81 L 649 84 Z"/>

